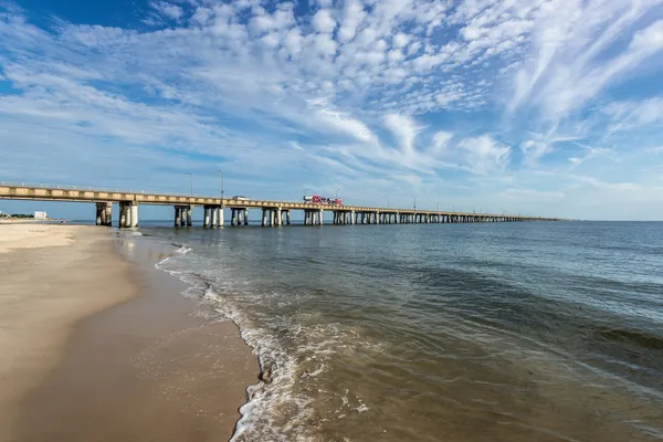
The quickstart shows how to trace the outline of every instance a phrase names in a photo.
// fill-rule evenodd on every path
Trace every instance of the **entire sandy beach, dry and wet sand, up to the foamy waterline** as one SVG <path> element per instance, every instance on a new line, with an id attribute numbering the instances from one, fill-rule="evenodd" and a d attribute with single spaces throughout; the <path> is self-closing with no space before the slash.
<path id="1" fill-rule="evenodd" d="M 228 440 L 257 361 L 154 269 L 168 250 L 93 227 L 0 225 L 0 440 Z"/>

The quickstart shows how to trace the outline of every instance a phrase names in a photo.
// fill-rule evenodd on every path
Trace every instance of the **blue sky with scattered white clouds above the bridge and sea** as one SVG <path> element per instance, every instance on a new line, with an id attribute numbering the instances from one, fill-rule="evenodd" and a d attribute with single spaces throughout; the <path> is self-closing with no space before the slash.
<path id="1" fill-rule="evenodd" d="M 662 135 L 662 1 L 0 0 L 1 180 L 663 219 Z"/>

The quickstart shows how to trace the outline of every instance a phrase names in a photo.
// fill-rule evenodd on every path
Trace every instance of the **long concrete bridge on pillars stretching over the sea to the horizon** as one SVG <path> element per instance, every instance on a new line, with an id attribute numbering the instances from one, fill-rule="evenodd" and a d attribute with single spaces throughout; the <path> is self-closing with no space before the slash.
<path id="1" fill-rule="evenodd" d="M 333 224 L 410 224 L 410 223 L 460 223 L 460 222 L 523 222 L 560 221 L 558 218 L 520 217 L 497 213 L 474 213 L 440 210 L 397 209 L 365 206 L 318 204 L 313 202 L 271 201 L 255 199 L 197 197 L 145 191 L 95 189 L 87 187 L 35 186 L 0 182 L 0 199 L 94 202 L 96 224 L 113 225 L 113 204 L 119 204 L 120 229 L 138 227 L 138 207 L 158 204 L 173 207 L 173 225 L 192 227 L 193 207 L 202 207 L 202 225 L 224 225 L 223 209 L 231 212 L 230 225 L 249 225 L 249 209 L 262 210 L 263 227 L 290 225 L 291 211 L 304 212 L 304 224 L 323 225 L 324 212 L 333 212 Z"/>

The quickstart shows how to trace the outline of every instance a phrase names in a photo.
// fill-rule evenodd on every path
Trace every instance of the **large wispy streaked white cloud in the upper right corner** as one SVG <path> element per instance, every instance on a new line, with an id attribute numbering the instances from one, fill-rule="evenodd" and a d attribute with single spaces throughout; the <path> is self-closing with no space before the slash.
<path id="1" fill-rule="evenodd" d="M 661 51 L 663 22 L 659 21 L 633 33 L 623 51 L 606 54 L 653 4 L 564 1 L 538 12 L 532 59 L 517 73 L 509 109 L 526 104 L 538 108 L 544 119 L 558 122 Z"/>

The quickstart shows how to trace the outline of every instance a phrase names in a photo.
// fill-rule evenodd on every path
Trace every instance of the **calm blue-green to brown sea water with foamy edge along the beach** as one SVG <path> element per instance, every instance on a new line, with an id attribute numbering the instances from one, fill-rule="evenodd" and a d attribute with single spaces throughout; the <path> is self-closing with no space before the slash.
<path id="1" fill-rule="evenodd" d="M 663 223 L 141 231 L 271 371 L 233 441 L 663 440 Z"/>

